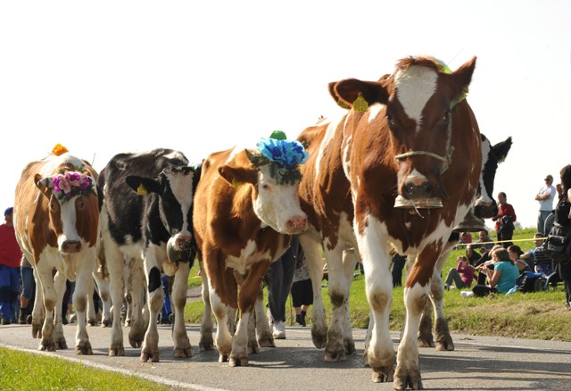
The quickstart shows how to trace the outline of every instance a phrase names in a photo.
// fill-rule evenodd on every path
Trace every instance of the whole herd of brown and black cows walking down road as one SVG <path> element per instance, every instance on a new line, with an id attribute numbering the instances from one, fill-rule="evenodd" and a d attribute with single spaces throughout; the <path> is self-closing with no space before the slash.
<path id="1" fill-rule="evenodd" d="M 41 337 L 39 348 L 67 348 L 57 304 L 66 279 L 75 279 L 75 349 L 92 354 L 87 300 L 95 277 L 103 325 L 112 322 L 109 355 L 124 355 L 120 319 L 128 292 L 129 344 L 141 347 L 141 360 L 158 361 L 157 325 L 150 320 L 161 312 L 166 273 L 174 277 L 174 355 L 190 356 L 184 307 L 197 257 L 205 305 L 199 346 L 216 347 L 220 362 L 247 365 L 248 353 L 275 346 L 261 282 L 298 235 L 315 296 L 311 335 L 325 348 L 325 360 L 343 361 L 355 351 L 349 291 L 362 262 L 372 379 L 422 388 L 418 345 L 434 346 L 435 339 L 437 348 L 453 349 L 441 271 L 457 240 L 454 229 L 472 213 L 496 213 L 493 179 L 511 146 L 511 138 L 492 146 L 480 134 L 465 99 L 475 66 L 473 58 L 450 71 L 432 58 L 410 57 L 377 81 L 330 83 L 331 96 L 347 109 L 340 121 L 321 119 L 294 141 L 270 138 L 257 149 L 214 153 L 199 167 L 169 149 L 117 154 L 100 173 L 65 149 L 30 162 L 16 188 L 14 227 L 38 281 L 32 334 Z M 392 247 L 410 261 L 397 354 L 388 323 Z"/>

